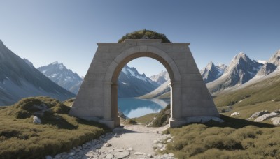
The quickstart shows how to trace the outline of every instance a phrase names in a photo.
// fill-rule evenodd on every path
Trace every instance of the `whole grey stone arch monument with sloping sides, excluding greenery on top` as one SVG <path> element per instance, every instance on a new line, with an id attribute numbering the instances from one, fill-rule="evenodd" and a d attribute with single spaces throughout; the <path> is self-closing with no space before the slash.
<path id="1" fill-rule="evenodd" d="M 110 128 L 118 126 L 118 75 L 126 63 L 146 56 L 162 63 L 171 79 L 172 118 L 169 126 L 216 119 L 218 111 L 188 45 L 161 43 L 158 39 L 98 43 L 70 114 L 105 123 Z"/>

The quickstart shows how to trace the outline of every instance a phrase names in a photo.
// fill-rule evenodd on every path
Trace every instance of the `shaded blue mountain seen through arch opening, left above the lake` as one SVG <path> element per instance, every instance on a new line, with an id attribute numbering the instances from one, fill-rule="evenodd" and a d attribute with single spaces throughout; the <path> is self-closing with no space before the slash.
<path id="1" fill-rule="evenodd" d="M 160 84 L 153 82 L 145 74 L 140 75 L 136 68 L 125 66 L 118 77 L 118 97 L 142 96 L 156 89 Z"/>

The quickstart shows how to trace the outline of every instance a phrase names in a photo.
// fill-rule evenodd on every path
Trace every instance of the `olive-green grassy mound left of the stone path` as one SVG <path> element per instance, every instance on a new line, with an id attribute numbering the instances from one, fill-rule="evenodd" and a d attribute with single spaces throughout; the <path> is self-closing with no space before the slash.
<path id="1" fill-rule="evenodd" d="M 98 123 L 68 116 L 69 109 L 47 97 L 24 98 L 15 105 L 1 107 L 0 158 L 55 155 L 109 131 Z M 33 123 L 34 114 L 42 124 Z"/>

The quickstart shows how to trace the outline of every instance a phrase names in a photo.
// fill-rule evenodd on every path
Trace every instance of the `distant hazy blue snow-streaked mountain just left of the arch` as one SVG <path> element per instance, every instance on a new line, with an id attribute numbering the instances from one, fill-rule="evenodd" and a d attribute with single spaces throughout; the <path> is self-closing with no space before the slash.
<path id="1" fill-rule="evenodd" d="M 83 79 L 72 70 L 67 69 L 63 63 L 50 63 L 48 66 L 39 67 L 38 70 L 64 89 L 77 94 Z"/>

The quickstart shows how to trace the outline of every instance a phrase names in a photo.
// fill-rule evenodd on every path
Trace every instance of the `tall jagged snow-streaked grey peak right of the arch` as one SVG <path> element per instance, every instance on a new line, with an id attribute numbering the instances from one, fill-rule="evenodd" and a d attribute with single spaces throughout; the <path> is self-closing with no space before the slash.
<path id="1" fill-rule="evenodd" d="M 252 61 L 243 52 L 237 54 L 225 69 L 221 77 L 207 84 L 210 93 L 218 93 L 232 86 L 239 86 L 248 82 L 263 66 L 262 63 Z"/>

